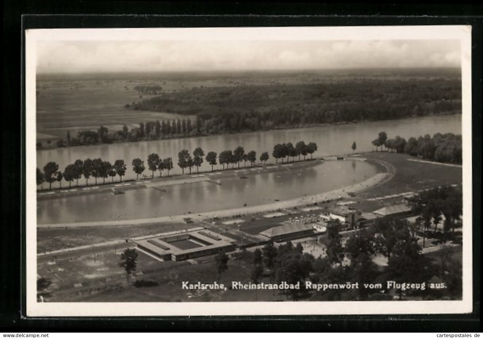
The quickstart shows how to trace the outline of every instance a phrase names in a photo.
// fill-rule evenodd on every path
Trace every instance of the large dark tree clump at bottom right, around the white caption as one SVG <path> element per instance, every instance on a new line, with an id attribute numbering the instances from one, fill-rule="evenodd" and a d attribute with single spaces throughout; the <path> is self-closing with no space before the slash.
<path id="1" fill-rule="evenodd" d="M 381 282 L 385 285 L 385 281 L 389 280 L 428 281 L 437 275 L 447 285 L 445 292 L 460 296 L 461 267 L 457 267 L 457 262 L 446 261 L 444 268 L 440 269 L 427 260 L 421 253 L 414 229 L 406 222 L 396 218 L 379 219 L 374 227 L 352 234 L 345 244 L 340 230 L 341 224 L 338 221 L 328 226 L 325 236 L 326 256 L 323 258 L 304 253 L 300 243 L 294 246 L 287 242 L 276 247 L 269 242 L 262 249 L 256 249 L 252 255 L 252 282 L 260 282 L 264 276 L 270 278 L 270 282 L 300 282 L 302 290 L 285 291 L 295 299 L 308 296 L 309 290 L 303 290 L 305 281 L 342 284 L 347 281 L 358 282 L 357 289 L 317 292 L 312 296 L 316 300 L 355 300 L 376 299 L 380 296 L 380 290 L 365 288 L 363 283 Z M 376 266 L 373 259 L 377 254 L 383 254 L 388 259 L 387 267 Z M 344 258 L 348 260 L 342 264 Z M 448 255 L 446 259 L 449 260 Z M 430 291 L 425 292 L 426 295 L 430 294 Z M 406 293 L 416 295 L 418 291 Z"/>

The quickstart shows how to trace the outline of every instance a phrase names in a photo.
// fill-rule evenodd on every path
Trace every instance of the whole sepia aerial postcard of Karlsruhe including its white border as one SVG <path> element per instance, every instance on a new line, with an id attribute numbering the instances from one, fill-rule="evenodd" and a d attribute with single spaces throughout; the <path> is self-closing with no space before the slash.
<path id="1" fill-rule="evenodd" d="M 25 51 L 29 316 L 471 312 L 471 27 Z"/>

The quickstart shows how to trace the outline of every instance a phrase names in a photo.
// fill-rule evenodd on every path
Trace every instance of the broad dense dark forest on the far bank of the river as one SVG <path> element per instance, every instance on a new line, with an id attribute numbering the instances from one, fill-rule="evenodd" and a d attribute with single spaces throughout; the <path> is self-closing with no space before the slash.
<path id="1" fill-rule="evenodd" d="M 458 78 L 196 87 L 128 105 L 196 115 L 195 134 L 461 113 Z"/>

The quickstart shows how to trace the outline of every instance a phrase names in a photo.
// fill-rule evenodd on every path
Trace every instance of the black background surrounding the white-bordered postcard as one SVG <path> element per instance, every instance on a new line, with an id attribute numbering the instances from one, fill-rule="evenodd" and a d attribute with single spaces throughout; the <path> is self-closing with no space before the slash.
<path id="1" fill-rule="evenodd" d="M 162 15 L 159 15 L 162 14 Z M 3 1 L 0 331 L 480 331 L 483 6 L 316 2 Z M 24 317 L 23 29 L 243 26 L 471 25 L 473 41 L 473 313 L 297 317 Z M 68 306 L 68 305 L 67 305 Z"/>

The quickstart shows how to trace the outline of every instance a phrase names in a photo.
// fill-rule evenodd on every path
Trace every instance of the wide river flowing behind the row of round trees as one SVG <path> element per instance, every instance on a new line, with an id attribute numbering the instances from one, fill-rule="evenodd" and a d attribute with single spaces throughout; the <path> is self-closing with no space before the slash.
<path id="1" fill-rule="evenodd" d="M 241 145 L 245 153 L 255 150 L 257 159 L 262 152 L 268 152 L 270 155 L 269 161 L 273 161 L 271 157 L 275 144 L 292 142 L 295 145 L 298 141 L 305 141 L 306 143 L 317 143 L 318 150 L 314 153 L 314 156 L 320 157 L 351 153 L 351 146 L 354 141 L 357 145 L 357 152 L 370 151 L 373 149 L 371 141 L 377 138 L 377 134 L 380 131 L 385 131 L 389 138 L 397 135 L 404 138 L 418 137 L 425 134 L 433 135 L 437 132 L 461 134 L 461 115 L 426 116 L 337 126 L 57 148 L 37 151 L 37 167 L 42 170 L 47 162 L 55 161 L 59 165 L 59 169 L 63 170 L 68 164 L 74 163 L 75 160 L 84 160 L 87 157 L 91 159 L 100 157 L 102 160 L 110 161 L 111 163 L 114 163 L 117 159 L 123 159 L 128 169 L 124 178 L 135 178 L 136 174 L 132 171 L 132 166 L 130 165 L 132 160 L 136 157 L 144 160 L 144 165 L 146 166 L 144 174 L 151 175 L 151 172 L 147 169 L 147 156 L 151 153 L 157 153 L 161 158 L 172 158 L 174 168 L 171 174 L 181 174 L 177 161 L 178 152 L 182 149 L 187 149 L 192 153 L 195 148 L 201 147 L 206 155 L 210 151 L 219 154 L 224 150 L 233 150 Z M 200 170 L 210 169 L 211 166 L 204 160 Z M 156 174 L 159 175 L 159 173 Z M 94 179 L 90 178 L 89 183 L 94 183 Z M 66 183 L 64 182 L 63 184 Z M 43 186 L 46 187 L 47 183 L 43 183 Z M 54 183 L 52 186 L 58 185 Z"/>

